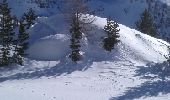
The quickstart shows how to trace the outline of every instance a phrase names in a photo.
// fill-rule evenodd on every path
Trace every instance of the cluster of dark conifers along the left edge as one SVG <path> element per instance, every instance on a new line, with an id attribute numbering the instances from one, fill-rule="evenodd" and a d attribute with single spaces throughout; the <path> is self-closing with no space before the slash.
<path id="1" fill-rule="evenodd" d="M 11 15 L 6 0 L 0 4 L 0 66 L 23 65 L 29 44 L 27 30 L 34 24 L 35 12 L 29 9 L 22 18 Z"/>

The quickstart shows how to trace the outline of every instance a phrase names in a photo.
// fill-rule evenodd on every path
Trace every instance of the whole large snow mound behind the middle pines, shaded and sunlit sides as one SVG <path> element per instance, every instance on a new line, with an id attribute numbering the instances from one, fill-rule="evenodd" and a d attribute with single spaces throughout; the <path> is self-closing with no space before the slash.
<path id="1" fill-rule="evenodd" d="M 56 21 L 53 21 L 54 19 Z M 68 34 L 67 27 L 63 26 L 66 25 L 66 23 L 61 20 L 63 19 L 60 15 L 41 18 L 39 23 L 33 27 L 31 31 L 33 44 L 31 44 L 29 49 L 31 59 L 61 60 L 69 54 L 70 35 Z M 63 23 L 63 25 L 60 29 L 52 27 L 58 26 L 61 23 Z M 105 36 L 103 28 L 106 23 L 106 18 L 95 17 L 95 21 L 92 23 L 92 26 L 95 26 L 95 28 L 92 31 L 84 33 L 81 48 L 85 53 L 84 59 L 104 61 L 118 58 L 136 64 L 146 64 L 148 62 L 157 63 L 166 60 L 165 56 L 169 54 L 167 47 L 169 44 L 167 42 L 143 34 L 135 29 L 130 29 L 122 24 L 119 24 L 121 42 L 111 53 L 106 52 L 102 48 L 102 39 Z M 40 27 L 44 33 L 40 30 Z M 52 35 L 50 35 L 49 32 L 51 32 Z M 59 34 L 55 35 L 54 33 Z"/>

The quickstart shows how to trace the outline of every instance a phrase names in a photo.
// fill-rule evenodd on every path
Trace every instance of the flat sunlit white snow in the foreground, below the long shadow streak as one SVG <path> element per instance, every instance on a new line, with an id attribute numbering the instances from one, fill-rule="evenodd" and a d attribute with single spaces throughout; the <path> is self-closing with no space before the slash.
<path id="1" fill-rule="evenodd" d="M 85 72 L 76 71 L 66 76 L 6 81 L 1 83 L 0 96 L 3 100 L 108 100 L 112 96 L 121 94 L 126 87 L 141 83 L 141 81 L 134 82 L 139 80 L 138 78 L 131 78 L 133 68 L 126 70 L 129 69 L 127 62 L 128 67 L 121 68 L 122 64 L 119 63 L 94 63 L 93 68 Z"/>

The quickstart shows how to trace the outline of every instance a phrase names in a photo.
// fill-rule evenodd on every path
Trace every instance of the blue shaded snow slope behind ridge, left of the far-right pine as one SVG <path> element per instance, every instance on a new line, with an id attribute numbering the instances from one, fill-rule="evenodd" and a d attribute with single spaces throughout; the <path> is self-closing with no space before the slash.
<path id="1" fill-rule="evenodd" d="M 140 14 L 147 8 L 145 0 L 93 0 L 94 8 L 104 8 L 100 14 L 102 17 L 109 17 L 131 28 L 135 28 L 135 22 Z"/>

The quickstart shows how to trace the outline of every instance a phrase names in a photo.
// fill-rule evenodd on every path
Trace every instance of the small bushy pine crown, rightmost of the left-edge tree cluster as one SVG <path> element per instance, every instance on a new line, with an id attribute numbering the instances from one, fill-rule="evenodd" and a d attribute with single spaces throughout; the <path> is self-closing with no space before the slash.
<path id="1" fill-rule="evenodd" d="M 24 13 L 23 21 L 26 23 L 26 28 L 29 29 L 32 25 L 34 25 L 37 15 L 35 11 L 30 8 L 27 13 Z"/>

